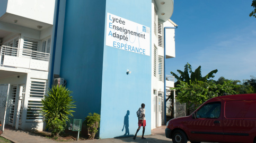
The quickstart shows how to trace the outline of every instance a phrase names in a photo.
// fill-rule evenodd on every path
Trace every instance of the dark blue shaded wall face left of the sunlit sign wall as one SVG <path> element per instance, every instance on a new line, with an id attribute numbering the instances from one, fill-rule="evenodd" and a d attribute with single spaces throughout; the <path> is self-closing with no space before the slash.
<path id="1" fill-rule="evenodd" d="M 60 77 L 73 91 L 77 119 L 100 113 L 104 24 L 104 1 L 66 1 Z"/>

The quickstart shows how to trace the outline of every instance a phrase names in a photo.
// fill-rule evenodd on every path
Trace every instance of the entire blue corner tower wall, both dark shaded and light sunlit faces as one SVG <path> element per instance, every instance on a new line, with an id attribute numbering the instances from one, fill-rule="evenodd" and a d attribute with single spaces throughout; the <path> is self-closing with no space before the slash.
<path id="1" fill-rule="evenodd" d="M 67 0 L 60 77 L 73 91 L 77 105 L 74 118 L 84 120 L 89 112 L 100 113 L 100 138 L 124 135 L 124 122 L 134 135 L 138 128 L 136 111 L 145 103 L 145 135 L 149 135 L 151 56 L 106 46 L 107 13 L 151 28 L 151 1 Z M 128 75 L 127 69 L 131 71 Z"/>

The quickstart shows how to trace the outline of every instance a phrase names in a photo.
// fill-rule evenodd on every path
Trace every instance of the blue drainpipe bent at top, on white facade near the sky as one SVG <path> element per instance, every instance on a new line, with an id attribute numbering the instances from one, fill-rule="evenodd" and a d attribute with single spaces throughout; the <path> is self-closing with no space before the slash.
<path id="1" fill-rule="evenodd" d="M 167 29 L 175 29 L 178 28 L 177 26 L 174 27 L 164 27 L 164 123 L 166 123 L 166 75 L 165 75 L 165 59 L 166 59 L 166 41 L 165 41 L 165 30 Z"/>

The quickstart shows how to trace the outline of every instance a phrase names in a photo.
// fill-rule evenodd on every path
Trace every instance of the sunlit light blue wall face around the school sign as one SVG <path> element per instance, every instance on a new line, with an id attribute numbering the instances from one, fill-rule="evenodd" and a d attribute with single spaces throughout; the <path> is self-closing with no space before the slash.
<path id="1" fill-rule="evenodd" d="M 106 14 L 111 13 L 151 28 L 151 1 L 107 0 Z M 105 23 L 106 24 L 106 23 Z M 123 124 L 129 134 L 138 128 L 136 111 L 146 104 L 146 131 L 151 134 L 151 56 L 120 50 L 104 44 L 101 97 L 100 138 L 123 136 Z M 127 69 L 131 71 L 126 74 Z M 129 110 L 130 115 L 127 115 Z M 142 129 L 138 135 L 142 135 Z"/>

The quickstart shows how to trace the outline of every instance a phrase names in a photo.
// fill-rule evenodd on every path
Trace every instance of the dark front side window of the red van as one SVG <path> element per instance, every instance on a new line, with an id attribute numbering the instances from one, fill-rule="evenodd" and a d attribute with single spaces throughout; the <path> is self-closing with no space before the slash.
<path id="1" fill-rule="evenodd" d="M 197 111 L 196 118 L 219 118 L 220 108 L 220 102 L 205 104 Z"/>

